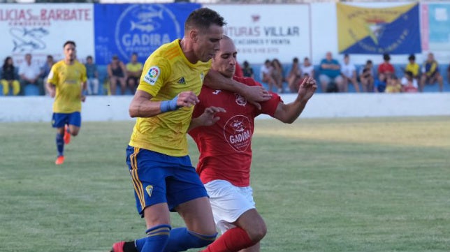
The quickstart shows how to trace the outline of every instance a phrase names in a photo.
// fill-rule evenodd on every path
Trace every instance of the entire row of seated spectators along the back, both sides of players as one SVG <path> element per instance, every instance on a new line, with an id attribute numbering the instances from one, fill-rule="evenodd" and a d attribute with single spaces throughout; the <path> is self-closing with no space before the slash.
<path id="1" fill-rule="evenodd" d="M 36 94 L 46 95 L 44 85 L 55 60 L 52 55 L 48 55 L 43 66 L 38 66 L 34 62 L 29 53 L 24 55 L 24 61 L 20 66 L 15 66 L 12 57 L 4 59 L 0 68 L 0 87 L 3 87 L 3 96 L 23 96 L 24 90 L 29 86 L 34 87 Z M 131 54 L 126 64 L 120 61 L 117 55 L 113 55 L 110 64 L 106 66 L 105 80 L 99 80 L 99 69 L 92 56 L 88 56 L 84 62 L 88 77 L 87 95 L 136 92 L 143 69 L 143 64 L 138 62 L 137 54 Z M 248 61 L 244 61 L 242 66 L 237 66 L 236 73 L 254 78 L 257 72 Z M 439 85 L 439 91 L 444 90 L 444 77 L 440 74 L 440 67 L 433 53 L 428 53 L 422 65 L 416 63 L 414 54 L 409 55 L 401 71 L 395 71 L 389 54 L 384 54 L 383 61 L 377 66 L 369 59 L 363 66 L 357 67 L 351 62 L 348 54 L 344 54 L 340 62 L 331 52 L 326 52 L 317 68 L 314 68 L 307 57 L 303 62 L 294 57 L 289 68 L 284 68 L 278 59 L 267 59 L 259 69 L 259 73 L 259 81 L 266 84 L 270 91 L 278 93 L 296 93 L 303 79 L 309 76 L 317 77 L 321 92 L 324 93 L 348 92 L 350 85 L 355 92 L 422 92 L 426 85 L 436 83 Z M 450 65 L 447 77 L 450 84 Z"/>

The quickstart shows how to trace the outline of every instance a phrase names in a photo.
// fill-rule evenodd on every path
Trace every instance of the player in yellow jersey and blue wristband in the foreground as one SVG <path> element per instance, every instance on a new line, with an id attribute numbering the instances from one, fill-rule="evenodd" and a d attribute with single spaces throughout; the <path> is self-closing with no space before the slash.
<path id="1" fill-rule="evenodd" d="M 217 231 L 208 194 L 187 150 L 186 133 L 203 80 L 208 74 L 217 80 L 213 88 L 228 87 L 244 96 L 253 92 L 261 100 L 270 98 L 263 89 L 249 91 L 243 88 L 247 85 L 208 72 L 210 60 L 219 50 L 224 24 L 214 10 L 194 10 L 184 24 L 184 37 L 161 45 L 145 61 L 129 106 L 131 117 L 137 120 L 126 149 L 126 163 L 147 237 L 117 242 L 113 252 L 186 251 L 215 240 Z M 206 108 L 200 117 L 202 125 L 214 124 L 219 119 L 217 112 L 224 110 Z M 178 212 L 187 227 L 172 229 L 170 211 Z"/>

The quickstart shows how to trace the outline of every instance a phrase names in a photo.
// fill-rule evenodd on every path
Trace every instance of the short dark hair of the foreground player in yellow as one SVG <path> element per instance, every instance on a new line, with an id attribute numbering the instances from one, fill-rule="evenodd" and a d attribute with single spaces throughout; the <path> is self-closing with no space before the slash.
<path id="1" fill-rule="evenodd" d="M 210 8 L 198 8 L 189 14 L 186 22 L 184 23 L 184 32 L 191 29 L 208 29 L 212 24 L 217 24 L 219 27 L 223 27 L 226 22 L 224 17 L 219 15 L 215 10 Z"/>

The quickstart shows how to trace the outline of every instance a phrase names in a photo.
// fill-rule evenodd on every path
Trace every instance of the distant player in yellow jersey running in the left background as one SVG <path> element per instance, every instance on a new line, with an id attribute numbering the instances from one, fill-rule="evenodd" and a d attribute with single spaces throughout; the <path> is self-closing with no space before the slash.
<path id="1" fill-rule="evenodd" d="M 86 68 L 76 60 L 75 42 L 64 43 L 64 59 L 52 66 L 46 87 L 53 103 L 52 126 L 57 128 L 56 144 L 58 156 L 55 163 L 64 163 L 64 143 L 68 144 L 70 135 L 78 135 L 81 126 L 81 102 L 86 97 Z"/>

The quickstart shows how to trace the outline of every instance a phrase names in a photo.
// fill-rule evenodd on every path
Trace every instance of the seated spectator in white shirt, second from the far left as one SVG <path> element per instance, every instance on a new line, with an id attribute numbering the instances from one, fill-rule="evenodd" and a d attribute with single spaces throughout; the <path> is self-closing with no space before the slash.
<path id="1" fill-rule="evenodd" d="M 27 85 L 38 87 L 39 95 L 44 94 L 43 82 L 39 79 L 41 69 L 37 64 L 31 61 L 31 54 L 25 54 L 25 61 L 19 67 L 20 91 L 24 94 L 24 88 Z"/>

